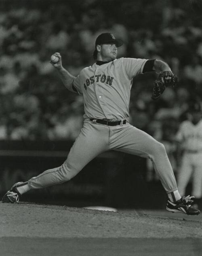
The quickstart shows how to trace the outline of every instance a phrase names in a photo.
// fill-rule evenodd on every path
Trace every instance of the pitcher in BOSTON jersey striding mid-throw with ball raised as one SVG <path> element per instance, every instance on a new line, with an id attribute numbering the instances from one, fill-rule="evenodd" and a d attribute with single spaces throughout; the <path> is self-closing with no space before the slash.
<path id="1" fill-rule="evenodd" d="M 17 202 L 19 195 L 31 189 L 63 183 L 72 179 L 98 154 L 107 150 L 118 150 L 151 159 L 162 185 L 168 195 L 166 209 L 196 215 L 200 211 L 191 206 L 193 197 L 181 197 L 173 169 L 165 147 L 147 133 L 128 123 L 130 89 L 133 78 L 144 72 L 160 73 L 153 95 L 157 99 L 165 84 L 173 85 L 174 74 L 167 63 L 155 59 L 116 59 L 117 47 L 123 44 L 111 33 L 99 35 L 93 56 L 97 59 L 92 66 L 84 68 L 75 78 L 62 66 L 61 55 L 53 66 L 69 91 L 84 98 L 84 126 L 76 138 L 66 161 L 33 177 L 28 182 L 18 182 L 4 195 L 2 202 Z M 164 77 L 165 76 L 165 77 Z M 166 81 L 166 82 L 163 82 Z"/>

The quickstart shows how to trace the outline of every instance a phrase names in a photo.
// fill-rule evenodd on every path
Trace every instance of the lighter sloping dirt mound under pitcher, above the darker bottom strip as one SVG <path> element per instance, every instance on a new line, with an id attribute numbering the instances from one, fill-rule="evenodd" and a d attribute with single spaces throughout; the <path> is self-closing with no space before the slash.
<path id="1" fill-rule="evenodd" d="M 183 216 L 184 217 L 184 216 Z M 0 237 L 202 238 L 202 222 L 137 212 L 0 203 Z"/>

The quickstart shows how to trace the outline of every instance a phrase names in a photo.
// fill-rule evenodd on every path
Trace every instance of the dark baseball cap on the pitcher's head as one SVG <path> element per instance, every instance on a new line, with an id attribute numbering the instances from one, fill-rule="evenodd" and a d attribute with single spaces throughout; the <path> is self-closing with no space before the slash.
<path id="1" fill-rule="evenodd" d="M 120 47 L 124 42 L 121 39 L 116 39 L 112 33 L 100 34 L 95 41 L 95 51 L 93 52 L 94 59 L 97 58 L 97 49 L 96 49 L 97 44 L 100 45 L 100 44 L 109 44 L 109 43 L 114 43 L 116 44 L 116 47 Z"/>

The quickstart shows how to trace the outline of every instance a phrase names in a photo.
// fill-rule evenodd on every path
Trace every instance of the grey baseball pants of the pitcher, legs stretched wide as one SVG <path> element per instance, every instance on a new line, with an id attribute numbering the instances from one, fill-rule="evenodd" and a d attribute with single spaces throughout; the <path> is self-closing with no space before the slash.
<path id="1" fill-rule="evenodd" d="M 65 162 L 60 167 L 48 169 L 31 178 L 28 186 L 30 189 L 38 189 L 66 182 L 76 176 L 98 154 L 108 150 L 150 158 L 166 193 L 177 190 L 173 169 L 163 144 L 129 123 L 107 126 L 90 120 L 84 121 L 84 126 Z"/>

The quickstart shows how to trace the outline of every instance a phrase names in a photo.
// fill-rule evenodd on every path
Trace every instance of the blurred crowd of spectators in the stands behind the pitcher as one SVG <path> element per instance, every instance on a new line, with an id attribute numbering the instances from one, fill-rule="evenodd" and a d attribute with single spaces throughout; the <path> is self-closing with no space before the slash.
<path id="1" fill-rule="evenodd" d="M 181 3 L 181 4 L 180 4 Z M 202 19 L 181 1 L 2 1 L 0 8 L 0 140 L 74 140 L 82 97 L 62 85 L 49 63 L 60 52 L 78 75 L 94 63 L 102 32 L 122 38 L 118 57 L 162 59 L 179 77 L 158 101 L 154 72 L 134 80 L 130 122 L 172 150 L 189 101 L 202 99 Z"/>

